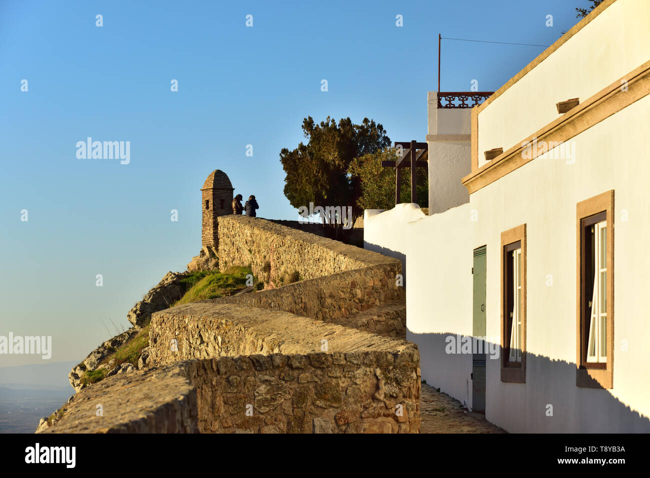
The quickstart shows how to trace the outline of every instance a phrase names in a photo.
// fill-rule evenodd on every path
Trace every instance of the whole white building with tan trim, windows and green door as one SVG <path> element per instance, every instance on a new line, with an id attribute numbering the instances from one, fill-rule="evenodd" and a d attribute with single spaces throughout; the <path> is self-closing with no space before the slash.
<path id="1" fill-rule="evenodd" d="M 430 216 L 366 211 L 422 378 L 506 431 L 650 431 L 649 94 L 650 1 L 605 0 L 482 105 L 430 92 Z"/>

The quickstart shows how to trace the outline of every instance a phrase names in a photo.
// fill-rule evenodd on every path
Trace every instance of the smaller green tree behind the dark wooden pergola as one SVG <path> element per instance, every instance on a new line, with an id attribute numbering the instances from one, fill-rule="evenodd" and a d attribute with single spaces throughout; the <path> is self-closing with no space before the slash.
<path id="1" fill-rule="evenodd" d="M 395 161 L 395 148 L 389 147 L 382 151 L 369 153 L 356 158 L 350 164 L 350 173 L 361 181 L 361 195 L 357 205 L 361 209 L 392 209 L 395 207 L 395 169 L 384 168 L 382 161 Z M 421 160 L 426 160 L 424 156 Z M 428 168 L 417 168 L 417 204 L 420 207 L 429 205 Z M 402 170 L 400 184 L 400 203 L 411 202 L 411 170 Z"/>

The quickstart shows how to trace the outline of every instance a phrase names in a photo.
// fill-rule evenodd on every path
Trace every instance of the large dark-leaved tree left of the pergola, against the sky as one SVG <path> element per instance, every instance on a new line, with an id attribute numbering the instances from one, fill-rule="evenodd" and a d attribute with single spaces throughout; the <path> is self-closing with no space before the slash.
<path id="1" fill-rule="evenodd" d="M 286 173 L 284 194 L 293 207 L 351 206 L 352 221 L 363 210 L 357 199 L 361 195 L 361 181 L 350 174 L 354 158 L 389 147 L 390 138 L 383 126 L 364 118 L 360 125 L 350 118 L 337 122 L 329 116 L 315 123 L 309 116 L 302 122 L 307 144 L 300 142 L 296 149 L 280 151 L 280 162 Z M 336 224 L 337 218 L 326 218 L 326 236 L 348 242 L 351 229 Z M 341 222 L 341 221 L 338 221 Z"/>

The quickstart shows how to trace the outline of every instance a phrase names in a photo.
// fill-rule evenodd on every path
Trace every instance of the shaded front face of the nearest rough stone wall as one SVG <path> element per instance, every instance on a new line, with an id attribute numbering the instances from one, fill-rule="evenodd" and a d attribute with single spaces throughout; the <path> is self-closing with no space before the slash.
<path id="1" fill-rule="evenodd" d="M 193 360 L 201 433 L 418 433 L 417 350 Z"/>

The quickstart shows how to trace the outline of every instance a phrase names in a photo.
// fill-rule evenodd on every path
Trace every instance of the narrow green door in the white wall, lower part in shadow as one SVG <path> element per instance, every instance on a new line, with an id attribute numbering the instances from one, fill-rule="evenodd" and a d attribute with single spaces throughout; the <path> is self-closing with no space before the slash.
<path id="1" fill-rule="evenodd" d="M 474 267 L 472 268 L 473 286 L 473 327 L 474 337 L 486 336 L 486 246 L 474 249 Z M 472 354 L 472 410 L 486 411 L 486 345 L 483 340 L 473 341 L 478 349 Z M 478 353 L 481 352 L 481 353 Z"/>

